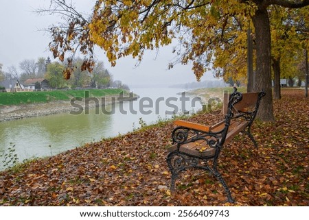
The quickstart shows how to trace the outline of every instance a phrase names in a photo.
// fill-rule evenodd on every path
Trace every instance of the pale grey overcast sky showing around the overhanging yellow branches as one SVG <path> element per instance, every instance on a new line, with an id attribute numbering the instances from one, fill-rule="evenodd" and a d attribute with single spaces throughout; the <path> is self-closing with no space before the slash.
<path id="1" fill-rule="evenodd" d="M 76 0 L 78 9 L 89 12 L 94 0 Z M 49 56 L 48 43 L 51 40 L 46 32 L 40 31 L 58 21 L 56 16 L 38 16 L 33 11 L 47 8 L 50 0 L 1 0 L 0 1 L 0 63 L 3 71 L 14 65 L 19 68 L 23 60 L 37 60 Z M 115 67 L 106 60 L 104 52 L 97 50 L 96 57 L 103 61 L 106 69 L 113 74 L 114 80 L 122 80 L 129 86 L 168 86 L 194 82 L 196 78 L 191 66 L 181 64 L 168 70 L 168 62 L 173 58 L 172 47 L 156 51 L 147 51 L 144 59 L 135 67 L 136 61 L 122 58 Z M 53 59 L 52 59 L 53 60 Z M 205 73 L 202 80 L 213 80 L 211 73 Z"/>

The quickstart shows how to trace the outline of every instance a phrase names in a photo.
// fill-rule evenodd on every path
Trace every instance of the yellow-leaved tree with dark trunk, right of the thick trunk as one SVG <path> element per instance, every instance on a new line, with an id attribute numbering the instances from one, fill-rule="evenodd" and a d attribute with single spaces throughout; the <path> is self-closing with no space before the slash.
<path id="1" fill-rule="evenodd" d="M 274 74 L 274 98 L 279 99 L 280 78 L 287 78 L 289 86 L 295 83 L 297 66 L 302 62 L 304 42 L 308 40 L 308 13 L 306 8 L 271 10 L 272 66 Z"/>

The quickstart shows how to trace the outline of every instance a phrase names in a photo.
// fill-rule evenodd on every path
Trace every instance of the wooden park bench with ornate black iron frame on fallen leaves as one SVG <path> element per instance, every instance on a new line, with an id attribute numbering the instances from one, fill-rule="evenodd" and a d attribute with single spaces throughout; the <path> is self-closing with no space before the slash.
<path id="1" fill-rule="evenodd" d="M 172 131 L 173 145 L 168 148 L 170 153 L 167 157 L 172 174 L 171 191 L 174 191 L 181 171 L 190 168 L 204 169 L 213 174 L 225 188 L 227 201 L 234 201 L 229 187 L 217 169 L 218 157 L 223 145 L 240 132 L 247 134 L 255 147 L 258 147 L 251 134 L 251 125 L 264 95 L 264 91 L 239 93 L 236 88 L 231 95 L 225 93 L 222 110 L 225 114 L 224 120 L 212 126 L 183 120 L 174 121 L 177 127 Z"/>

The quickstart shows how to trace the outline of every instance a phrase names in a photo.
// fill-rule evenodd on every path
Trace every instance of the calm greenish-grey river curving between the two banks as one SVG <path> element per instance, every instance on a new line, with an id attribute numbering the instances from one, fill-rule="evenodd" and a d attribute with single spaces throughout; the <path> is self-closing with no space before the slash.
<path id="1" fill-rule="evenodd" d="M 133 88 L 131 92 L 139 95 L 139 99 L 93 108 L 89 114 L 65 113 L 1 122 L 0 155 L 11 148 L 20 162 L 54 156 L 84 143 L 130 132 L 140 127 L 140 119 L 149 125 L 172 117 L 173 112 L 179 114 L 183 108 L 190 112 L 201 109 L 201 103 L 197 99 L 187 100 L 187 95 L 181 95 L 183 91 L 181 88 Z M 0 158 L 0 169 L 3 160 L 4 157 Z"/>

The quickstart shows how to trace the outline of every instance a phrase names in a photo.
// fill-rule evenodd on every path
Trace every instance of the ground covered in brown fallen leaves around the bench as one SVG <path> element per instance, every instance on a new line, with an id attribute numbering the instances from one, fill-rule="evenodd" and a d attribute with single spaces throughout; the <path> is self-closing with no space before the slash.
<path id="1" fill-rule="evenodd" d="M 304 90 L 283 90 L 274 107 L 275 122 L 253 125 L 258 149 L 236 136 L 222 151 L 219 169 L 235 204 L 203 171 L 184 172 L 170 194 L 165 158 L 173 125 L 163 123 L 0 173 L 0 205 L 309 206 L 309 99 Z"/>

